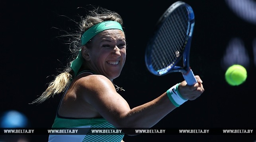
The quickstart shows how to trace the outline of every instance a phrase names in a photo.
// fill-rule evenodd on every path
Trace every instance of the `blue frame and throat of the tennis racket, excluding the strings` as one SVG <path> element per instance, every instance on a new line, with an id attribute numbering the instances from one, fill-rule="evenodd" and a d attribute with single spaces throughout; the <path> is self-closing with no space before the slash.
<path id="1" fill-rule="evenodd" d="M 161 26 L 162 23 L 164 23 L 166 17 L 168 17 L 168 15 L 170 14 L 170 12 L 172 12 L 172 10 L 174 10 L 178 6 L 185 6 L 189 13 L 189 15 L 188 15 L 189 24 L 188 24 L 188 30 L 186 33 L 187 43 L 186 43 L 186 46 L 184 47 L 184 51 L 182 52 L 182 55 L 179 56 L 172 65 L 169 65 L 168 67 L 166 67 L 164 69 L 160 69 L 160 70 L 156 71 L 152 67 L 152 62 L 151 62 L 151 57 L 150 57 L 150 55 L 152 53 L 152 42 L 154 41 L 154 39 L 156 37 L 156 36 L 153 36 L 146 48 L 145 62 L 146 62 L 147 69 L 150 71 L 150 73 L 152 73 L 154 75 L 162 76 L 162 75 L 166 75 L 168 73 L 181 72 L 185 81 L 187 82 L 187 84 L 193 85 L 193 84 L 197 83 L 197 80 L 195 79 L 195 75 L 193 74 L 193 71 L 190 68 L 190 63 L 189 63 L 190 46 L 191 46 L 191 41 L 192 41 L 193 29 L 194 29 L 194 25 L 195 25 L 195 20 L 194 20 L 195 16 L 194 16 L 191 6 L 182 1 L 175 2 L 161 16 L 161 18 L 158 21 L 158 23 L 160 23 L 160 24 L 158 24 L 158 26 Z M 157 33 L 155 33 L 155 35 L 157 35 Z M 183 67 L 177 65 L 181 59 L 183 59 Z"/>

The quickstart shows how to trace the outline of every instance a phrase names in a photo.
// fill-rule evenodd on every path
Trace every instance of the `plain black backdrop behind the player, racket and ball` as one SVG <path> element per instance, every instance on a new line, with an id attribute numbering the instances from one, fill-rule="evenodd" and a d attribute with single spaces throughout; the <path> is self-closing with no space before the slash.
<path id="1" fill-rule="evenodd" d="M 66 65 L 68 45 L 57 38 L 75 30 L 76 21 L 86 15 L 88 4 L 118 12 L 127 36 L 126 65 L 114 80 L 125 92 L 120 94 L 130 107 L 146 103 L 174 84 L 183 81 L 180 73 L 157 77 L 145 66 L 144 54 L 149 35 L 158 18 L 174 0 L 164 1 L 1 1 L 0 112 L 17 110 L 27 116 L 29 127 L 47 128 L 53 124 L 60 96 L 43 104 L 29 104 Z M 205 92 L 196 100 L 178 107 L 154 127 L 168 128 L 256 128 L 256 87 L 253 40 L 256 25 L 238 17 L 225 1 L 184 0 L 195 13 L 190 65 L 203 80 Z M 235 0 L 234 0 L 235 2 Z M 254 2 L 256 2 L 254 0 Z M 78 8 L 83 7 L 83 8 Z M 255 11 L 254 11 L 255 12 Z M 56 28 L 53 28 L 56 27 Z M 248 78 L 240 86 L 225 81 L 223 56 L 229 41 L 240 38 L 248 52 Z M 243 57 L 237 57 L 243 58 Z M 229 63 L 232 63 L 232 60 Z M 234 63 L 236 63 L 234 61 Z M 225 66 L 225 65 L 224 65 Z M 227 65 L 226 65 L 227 66 Z M 31 142 L 46 142 L 48 136 L 31 136 Z M 243 141 L 254 142 L 255 135 L 138 135 L 125 136 L 125 142 L 149 141 Z"/>

